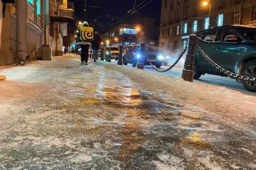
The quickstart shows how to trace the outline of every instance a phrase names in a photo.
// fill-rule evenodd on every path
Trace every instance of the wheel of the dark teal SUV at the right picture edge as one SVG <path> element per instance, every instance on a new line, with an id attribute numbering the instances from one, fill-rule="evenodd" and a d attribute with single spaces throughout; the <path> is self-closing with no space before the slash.
<path id="1" fill-rule="evenodd" d="M 256 77 L 256 60 L 250 60 L 244 64 L 243 76 Z M 256 81 L 243 81 L 245 89 L 256 92 Z"/>

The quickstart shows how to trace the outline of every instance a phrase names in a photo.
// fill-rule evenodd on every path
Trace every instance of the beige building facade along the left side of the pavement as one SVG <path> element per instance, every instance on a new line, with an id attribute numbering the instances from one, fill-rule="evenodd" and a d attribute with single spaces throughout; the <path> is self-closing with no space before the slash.
<path id="1" fill-rule="evenodd" d="M 56 55 L 61 32 L 59 25 L 69 22 L 65 17 L 60 18 L 60 9 L 65 1 L 20 0 L 2 3 L 5 8 L 1 16 L 3 22 L 0 23 L 0 66 L 19 64 L 28 55 L 29 60 L 35 60 L 37 56 L 42 56 L 44 45 L 51 46 L 52 55 Z"/>

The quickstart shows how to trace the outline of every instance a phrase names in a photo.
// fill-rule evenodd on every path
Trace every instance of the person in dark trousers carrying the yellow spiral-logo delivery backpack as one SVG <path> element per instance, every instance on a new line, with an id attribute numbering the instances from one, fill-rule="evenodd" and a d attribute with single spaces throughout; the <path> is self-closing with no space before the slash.
<path id="1" fill-rule="evenodd" d="M 82 27 L 89 27 L 88 22 L 84 21 Z M 81 29 L 81 27 L 80 27 Z M 92 45 L 90 41 L 80 39 L 81 31 L 78 33 L 79 42 L 78 44 L 81 46 L 81 64 L 88 65 L 88 57 L 89 57 L 89 48 Z"/>

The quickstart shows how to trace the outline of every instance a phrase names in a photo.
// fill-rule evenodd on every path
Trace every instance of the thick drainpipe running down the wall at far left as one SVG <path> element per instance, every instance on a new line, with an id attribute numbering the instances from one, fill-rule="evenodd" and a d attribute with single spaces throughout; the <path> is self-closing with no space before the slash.
<path id="1" fill-rule="evenodd" d="M 17 1 L 17 58 L 25 63 L 27 52 L 27 1 Z"/>

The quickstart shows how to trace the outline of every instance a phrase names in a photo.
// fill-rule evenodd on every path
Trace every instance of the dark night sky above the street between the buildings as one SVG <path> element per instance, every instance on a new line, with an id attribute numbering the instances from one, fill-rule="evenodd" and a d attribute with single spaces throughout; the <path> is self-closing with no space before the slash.
<path id="1" fill-rule="evenodd" d="M 77 20 L 84 20 L 84 0 L 70 0 L 74 2 L 75 17 Z M 111 22 L 115 22 L 116 19 L 127 14 L 129 10 L 132 10 L 135 0 L 87 0 L 86 6 L 100 6 L 108 9 L 91 8 L 87 7 L 86 20 L 91 24 L 95 21 L 94 25 L 99 29 L 111 25 Z M 145 0 L 136 0 L 136 6 L 143 3 Z M 146 0 L 149 2 L 150 0 Z M 144 3 L 146 3 L 144 2 Z M 108 16 L 108 18 L 106 18 Z M 153 0 L 152 3 L 142 8 L 138 13 L 134 13 L 127 20 L 138 19 L 141 17 L 154 17 L 156 18 L 156 25 L 159 25 L 161 17 L 161 0 Z M 127 21 L 126 20 L 126 21 Z M 101 31 L 101 30 L 99 30 Z"/>

